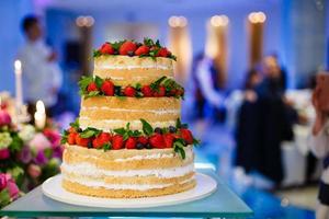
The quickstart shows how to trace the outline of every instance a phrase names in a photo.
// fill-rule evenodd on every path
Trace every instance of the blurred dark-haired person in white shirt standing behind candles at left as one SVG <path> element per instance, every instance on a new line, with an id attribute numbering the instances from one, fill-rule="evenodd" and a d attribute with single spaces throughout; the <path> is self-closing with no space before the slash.
<path id="1" fill-rule="evenodd" d="M 19 51 L 22 61 L 24 101 L 33 115 L 35 103 L 42 100 L 52 116 L 61 85 L 61 71 L 56 61 L 57 55 L 45 43 L 37 16 L 29 15 L 22 22 L 26 43 Z"/>

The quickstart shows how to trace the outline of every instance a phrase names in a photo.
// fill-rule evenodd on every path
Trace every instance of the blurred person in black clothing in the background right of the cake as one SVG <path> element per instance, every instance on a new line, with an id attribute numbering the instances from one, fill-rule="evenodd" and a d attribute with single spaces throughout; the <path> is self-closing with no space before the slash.
<path id="1" fill-rule="evenodd" d="M 284 99 L 281 70 L 273 58 L 263 61 L 264 80 L 254 88 L 254 102 L 242 104 L 237 128 L 237 164 L 258 171 L 277 185 L 283 180 L 281 142 L 293 139 L 291 112 Z"/>

